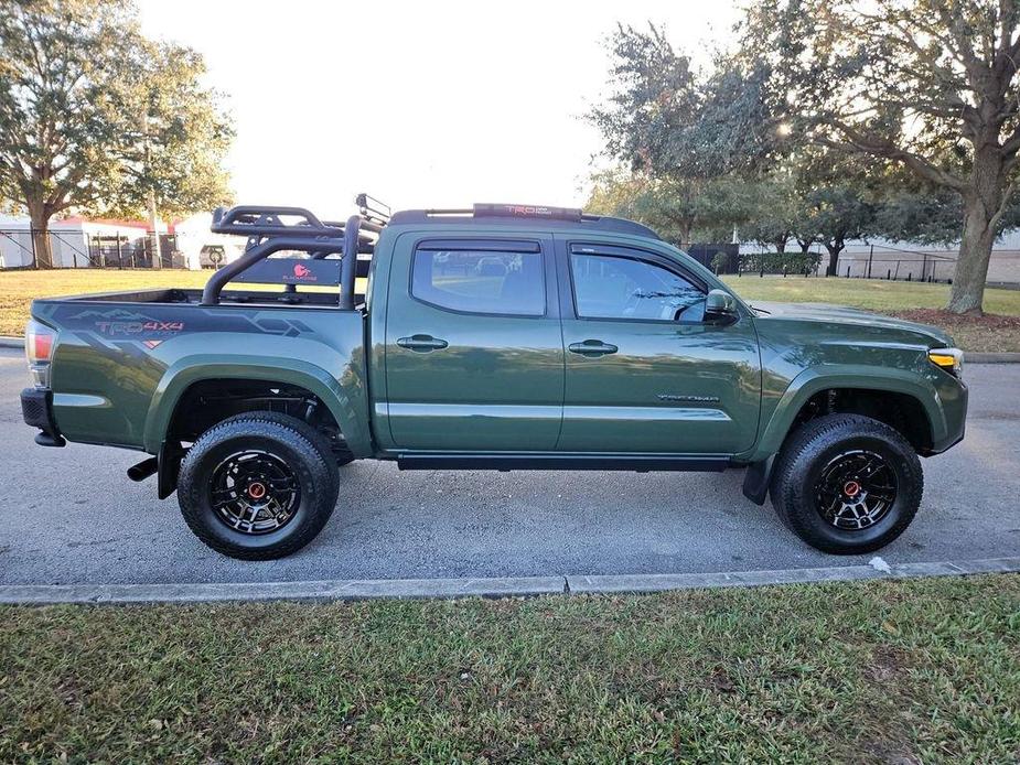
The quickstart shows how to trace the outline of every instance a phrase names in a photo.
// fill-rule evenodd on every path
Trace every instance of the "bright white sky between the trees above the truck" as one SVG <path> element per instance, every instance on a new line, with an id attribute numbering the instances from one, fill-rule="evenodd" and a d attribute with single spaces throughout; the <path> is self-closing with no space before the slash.
<path id="1" fill-rule="evenodd" d="M 731 0 L 281 2 L 141 0 L 150 36 L 205 56 L 237 138 L 238 203 L 340 217 L 358 191 L 395 207 L 578 206 L 600 150 L 618 22 L 674 45 L 726 40 Z"/>

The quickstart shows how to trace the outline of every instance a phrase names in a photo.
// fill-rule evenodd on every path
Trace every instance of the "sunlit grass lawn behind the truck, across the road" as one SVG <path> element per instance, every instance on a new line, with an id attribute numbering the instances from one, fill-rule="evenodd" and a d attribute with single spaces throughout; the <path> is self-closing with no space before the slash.
<path id="1" fill-rule="evenodd" d="M 201 288 L 212 271 L 55 270 L 0 272 L 0 335 L 21 335 L 34 298 L 153 287 Z M 820 302 L 892 313 L 947 330 L 968 351 L 1020 352 L 1020 290 L 987 290 L 983 319 L 949 316 L 934 309 L 945 305 L 945 284 L 805 279 L 803 277 L 728 277 L 750 301 Z M 272 288 L 276 289 L 276 288 Z"/>

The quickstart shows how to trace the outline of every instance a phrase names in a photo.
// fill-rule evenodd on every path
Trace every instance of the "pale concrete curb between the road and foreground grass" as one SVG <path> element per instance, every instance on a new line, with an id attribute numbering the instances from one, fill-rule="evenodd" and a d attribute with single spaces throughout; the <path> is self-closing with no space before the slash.
<path id="1" fill-rule="evenodd" d="M 698 574 L 619 574 L 608 577 L 520 577 L 502 579 L 388 579 L 319 582 L 222 584 L 7 584 L 0 603 L 216 603 L 230 601 L 346 601 L 379 597 L 508 597 L 570 593 L 645 593 L 702 588 L 763 586 L 852 582 L 913 577 L 1020 571 L 1020 558 L 887 564 L 776 571 L 729 571 Z"/>

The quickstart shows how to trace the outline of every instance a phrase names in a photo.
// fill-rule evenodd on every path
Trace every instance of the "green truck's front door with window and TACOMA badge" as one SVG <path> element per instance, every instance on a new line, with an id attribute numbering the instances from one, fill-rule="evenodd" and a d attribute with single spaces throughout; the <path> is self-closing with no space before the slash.
<path id="1" fill-rule="evenodd" d="M 558 450 L 733 454 L 758 432 L 752 320 L 705 321 L 708 285 L 675 258 L 559 243 L 567 384 Z"/>

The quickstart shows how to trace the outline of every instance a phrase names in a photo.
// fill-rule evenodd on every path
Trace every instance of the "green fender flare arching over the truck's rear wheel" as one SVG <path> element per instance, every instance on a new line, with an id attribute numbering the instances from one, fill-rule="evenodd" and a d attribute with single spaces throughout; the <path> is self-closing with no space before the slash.
<path id="1" fill-rule="evenodd" d="M 186 356 L 168 367 L 146 416 L 146 451 L 150 454 L 161 451 L 184 391 L 195 382 L 215 379 L 268 380 L 305 388 L 325 403 L 354 456 L 371 456 L 373 453 L 363 389 L 348 390 L 333 375 L 314 364 L 298 359 L 268 363 L 265 356 L 247 355 L 233 356 L 229 360 L 224 360 L 222 355 Z"/>

